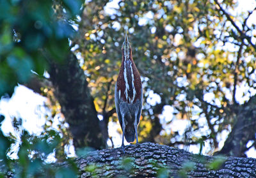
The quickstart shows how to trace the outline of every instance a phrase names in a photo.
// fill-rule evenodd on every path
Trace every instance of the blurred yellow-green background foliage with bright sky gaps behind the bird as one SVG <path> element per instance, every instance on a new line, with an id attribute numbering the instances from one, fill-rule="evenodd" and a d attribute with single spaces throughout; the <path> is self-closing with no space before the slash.
<path id="1" fill-rule="evenodd" d="M 144 86 L 139 141 L 180 147 L 196 144 L 200 152 L 206 142 L 209 154 L 220 149 L 217 138 L 232 128 L 235 107 L 248 101 L 256 89 L 252 45 L 240 38 L 214 1 L 120 1 L 115 8 L 106 3 L 87 1 L 74 40 L 97 112 L 115 107 L 115 81 L 127 26 Z M 237 3 L 227 0 L 221 6 L 232 11 Z M 255 24 L 243 25 L 247 15 L 237 12 L 232 19 L 255 40 Z M 238 87 L 244 90 L 237 96 L 248 98 L 236 98 L 234 88 Z M 159 102 L 150 102 L 151 91 Z M 160 121 L 166 105 L 174 115 Z M 116 118 L 113 115 L 111 121 L 117 122 Z M 185 133 L 173 128 L 177 120 L 188 126 Z"/>

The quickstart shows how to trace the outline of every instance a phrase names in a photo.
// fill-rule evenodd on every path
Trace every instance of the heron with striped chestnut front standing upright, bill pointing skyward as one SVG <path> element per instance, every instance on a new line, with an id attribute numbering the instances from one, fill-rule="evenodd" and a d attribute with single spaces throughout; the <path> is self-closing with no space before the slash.
<path id="1" fill-rule="evenodd" d="M 140 122 L 143 102 L 143 89 L 134 61 L 132 59 L 131 44 L 128 41 L 127 29 L 125 29 L 124 43 L 122 45 L 122 64 L 115 86 L 115 105 L 118 120 L 122 127 L 122 147 L 124 137 L 127 142 L 138 143 L 138 124 Z"/>

